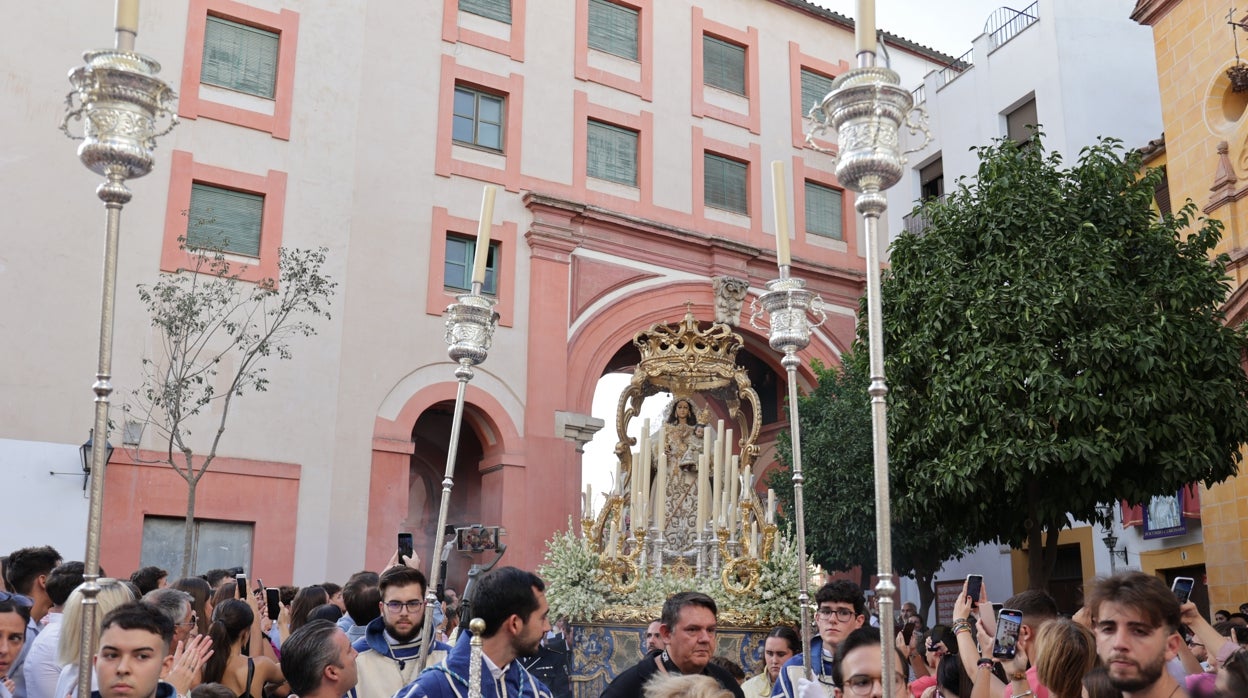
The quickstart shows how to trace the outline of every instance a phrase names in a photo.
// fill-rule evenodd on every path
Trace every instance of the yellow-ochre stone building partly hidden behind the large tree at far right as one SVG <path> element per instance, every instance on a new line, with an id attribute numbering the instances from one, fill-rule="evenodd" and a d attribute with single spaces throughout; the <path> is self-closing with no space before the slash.
<path id="1" fill-rule="evenodd" d="M 1236 91 L 1227 70 L 1244 62 L 1237 49 L 1248 57 L 1248 31 L 1236 36 L 1228 20 L 1243 22 L 1248 14 L 1232 17 L 1228 9 L 1223 0 L 1138 0 L 1131 16 L 1153 29 L 1171 201 L 1177 209 L 1191 199 L 1226 225 L 1217 251 L 1232 260 L 1227 321 L 1241 325 L 1248 316 L 1248 202 L 1241 201 L 1248 194 L 1248 89 Z M 1203 492 L 1201 518 L 1211 608 L 1238 606 L 1248 601 L 1248 473 Z"/>

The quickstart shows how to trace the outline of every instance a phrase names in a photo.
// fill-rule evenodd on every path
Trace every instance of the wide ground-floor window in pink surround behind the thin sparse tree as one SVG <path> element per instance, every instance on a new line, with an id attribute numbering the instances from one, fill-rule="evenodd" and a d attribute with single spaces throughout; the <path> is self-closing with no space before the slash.
<path id="1" fill-rule="evenodd" d="M 181 569 L 185 524 L 182 517 L 145 516 L 139 564 Z M 191 534 L 195 554 L 191 574 L 231 567 L 250 569 L 255 528 L 256 524 L 250 522 L 196 521 Z"/>

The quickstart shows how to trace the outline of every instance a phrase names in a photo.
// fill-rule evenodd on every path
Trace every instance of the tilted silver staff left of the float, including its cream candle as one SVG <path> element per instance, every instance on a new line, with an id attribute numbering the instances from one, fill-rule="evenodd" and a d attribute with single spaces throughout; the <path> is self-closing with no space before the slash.
<path id="1" fill-rule="evenodd" d="M 447 353 L 458 363 L 456 378 L 459 388 L 456 392 L 456 412 L 451 421 L 451 442 L 447 445 L 447 471 L 442 478 L 442 504 L 438 507 L 438 527 L 434 541 L 442 539 L 447 528 L 447 509 L 451 507 L 451 487 L 454 484 L 456 458 L 459 455 L 459 430 L 463 426 L 464 393 L 468 381 L 473 377 L 473 366 L 485 361 L 489 345 L 494 340 L 494 327 L 498 326 L 498 313 L 494 312 L 494 298 L 485 296 L 485 261 L 489 255 L 489 226 L 494 219 L 494 194 L 498 190 L 485 186 L 480 202 L 480 222 L 477 227 L 477 255 L 473 260 L 472 291 L 456 296 L 459 301 L 447 307 Z M 424 668 L 433 644 L 433 606 L 438 602 L 438 583 L 442 581 L 442 556 L 434 543 L 429 588 L 424 594 L 424 623 L 421 627 L 421 656 L 417 671 Z"/>

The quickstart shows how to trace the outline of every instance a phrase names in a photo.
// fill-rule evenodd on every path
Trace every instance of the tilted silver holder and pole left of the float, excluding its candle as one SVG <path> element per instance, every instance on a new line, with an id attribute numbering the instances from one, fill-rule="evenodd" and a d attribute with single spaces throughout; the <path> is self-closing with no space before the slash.
<path id="1" fill-rule="evenodd" d="M 459 385 L 456 390 L 454 417 L 451 421 L 451 441 L 447 445 L 447 468 L 442 478 L 442 502 L 438 506 L 436 537 L 442 536 L 447 528 L 447 513 L 451 508 L 451 488 L 454 486 L 456 460 L 459 456 L 459 432 L 463 428 L 464 396 L 468 391 L 468 381 L 475 375 L 473 367 L 483 363 L 489 356 L 494 330 L 498 327 L 498 312 L 494 311 L 495 301 L 484 295 L 482 282 L 474 281 L 472 291 L 456 296 L 456 300 L 459 302 L 447 306 L 444 315 L 447 353 L 457 363 L 456 378 Z M 422 642 L 417 671 L 424 668 L 424 661 L 429 656 L 429 646 L 433 644 L 433 606 L 438 602 L 437 588 L 442 581 L 441 559 L 437 554 L 432 557 L 429 587 L 424 594 L 424 626 L 421 631 Z"/>

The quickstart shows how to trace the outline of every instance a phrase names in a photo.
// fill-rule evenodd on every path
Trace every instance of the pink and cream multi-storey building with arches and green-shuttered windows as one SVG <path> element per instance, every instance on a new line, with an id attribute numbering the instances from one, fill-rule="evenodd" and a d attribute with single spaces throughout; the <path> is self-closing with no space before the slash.
<path id="1" fill-rule="evenodd" d="M 0 45 L 0 472 L 21 493 L 0 552 L 81 554 L 81 474 L 57 473 L 80 472 L 91 425 L 104 216 L 56 124 L 65 72 L 111 45 L 111 19 L 109 2 L 20 4 Z M 852 42 L 846 17 L 801 0 L 145 2 L 137 47 L 162 62 L 182 124 L 122 214 L 105 569 L 180 546 L 186 486 L 117 407 L 158 347 L 135 286 L 185 266 L 177 238 L 206 210 L 250 231 L 221 232 L 246 278 L 275 275 L 280 246 L 327 246 L 339 282 L 332 320 L 270 365 L 268 392 L 235 403 L 200 484 L 201 566 L 236 559 L 268 583 L 377 567 L 397 531 L 432 549 L 456 393 L 442 311 L 464 286 L 485 184 L 499 187 L 500 320 L 467 392 L 451 521 L 505 527 L 507 563 L 535 567 L 579 517 L 579 448 L 607 417 L 592 415 L 595 383 L 630 370 L 633 336 L 686 302 L 713 318 L 713 277 L 750 297 L 775 277 L 775 160 L 795 273 L 829 303 L 806 358 L 837 363 L 864 250 L 801 115 Z M 906 84 L 948 61 L 886 42 Z M 770 415 L 761 476 L 784 381 L 748 307 L 743 362 Z"/>

